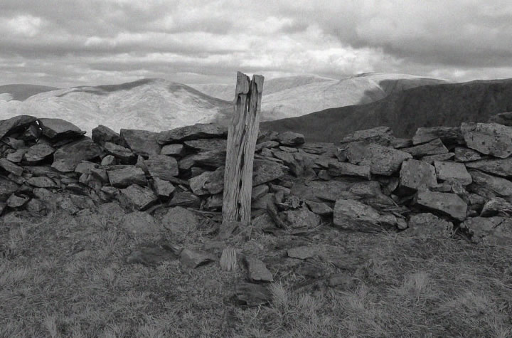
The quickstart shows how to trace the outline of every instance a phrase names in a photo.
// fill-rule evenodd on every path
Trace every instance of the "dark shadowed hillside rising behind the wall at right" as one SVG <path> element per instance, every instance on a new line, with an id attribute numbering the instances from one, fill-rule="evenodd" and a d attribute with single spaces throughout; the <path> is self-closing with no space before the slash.
<path id="1" fill-rule="evenodd" d="M 316 142 L 338 142 L 356 130 L 381 125 L 395 136 L 411 137 L 418 127 L 459 126 L 486 122 L 512 111 L 512 79 L 424 85 L 391 93 L 383 100 L 314 112 L 301 117 L 262 122 L 263 130 L 293 130 Z"/>

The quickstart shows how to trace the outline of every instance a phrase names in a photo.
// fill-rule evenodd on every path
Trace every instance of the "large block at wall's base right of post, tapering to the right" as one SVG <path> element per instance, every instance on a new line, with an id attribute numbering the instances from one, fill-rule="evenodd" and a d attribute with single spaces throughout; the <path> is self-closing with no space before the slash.
<path id="1" fill-rule="evenodd" d="M 334 226 L 343 230 L 373 232 L 393 228 L 397 219 L 390 214 L 381 214 L 375 208 L 360 201 L 338 199 L 334 204 Z"/>

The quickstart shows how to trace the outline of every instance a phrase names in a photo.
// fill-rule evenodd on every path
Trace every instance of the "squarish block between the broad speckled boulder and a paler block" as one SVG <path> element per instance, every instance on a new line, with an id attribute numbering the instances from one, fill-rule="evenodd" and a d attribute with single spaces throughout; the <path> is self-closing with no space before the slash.
<path id="1" fill-rule="evenodd" d="M 416 159 L 407 159 L 400 169 L 400 190 L 405 194 L 437 185 L 434 167 Z"/>

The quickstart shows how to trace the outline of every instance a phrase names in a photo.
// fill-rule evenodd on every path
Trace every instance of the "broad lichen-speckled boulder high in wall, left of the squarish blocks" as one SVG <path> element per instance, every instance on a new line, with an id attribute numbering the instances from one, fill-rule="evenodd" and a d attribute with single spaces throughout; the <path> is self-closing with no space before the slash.
<path id="1" fill-rule="evenodd" d="M 391 175 L 400 169 L 405 159 L 412 156 L 398 149 L 379 144 L 354 142 L 347 144 L 346 157 L 351 164 L 366 165 L 372 174 Z"/>

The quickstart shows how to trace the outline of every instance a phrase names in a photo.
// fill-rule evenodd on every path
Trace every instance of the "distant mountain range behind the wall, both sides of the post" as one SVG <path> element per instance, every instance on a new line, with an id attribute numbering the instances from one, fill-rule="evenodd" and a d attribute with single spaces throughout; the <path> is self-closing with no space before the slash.
<path id="1" fill-rule="evenodd" d="M 446 81 L 376 73 L 341 80 L 318 76 L 265 80 L 262 120 L 364 104 L 407 88 L 437 83 Z M 0 86 L 0 119 L 21 114 L 60 117 L 87 132 L 97 125 L 114 130 L 169 130 L 198 122 L 227 124 L 234 95 L 234 85 L 183 85 L 162 79 L 68 89 L 4 85 Z"/>

